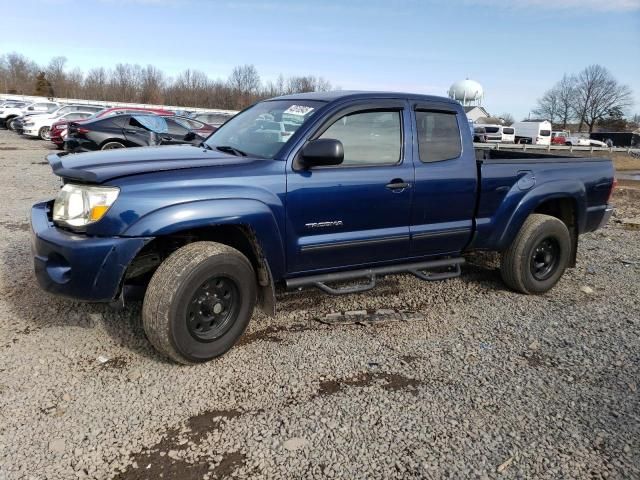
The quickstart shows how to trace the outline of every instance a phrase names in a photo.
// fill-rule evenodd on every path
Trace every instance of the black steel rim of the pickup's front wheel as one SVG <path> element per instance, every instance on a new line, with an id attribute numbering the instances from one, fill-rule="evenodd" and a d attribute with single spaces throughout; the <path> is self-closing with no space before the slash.
<path id="1" fill-rule="evenodd" d="M 202 342 L 223 336 L 233 325 L 240 308 L 240 291 L 228 277 L 212 277 L 194 292 L 187 307 L 187 327 Z"/>

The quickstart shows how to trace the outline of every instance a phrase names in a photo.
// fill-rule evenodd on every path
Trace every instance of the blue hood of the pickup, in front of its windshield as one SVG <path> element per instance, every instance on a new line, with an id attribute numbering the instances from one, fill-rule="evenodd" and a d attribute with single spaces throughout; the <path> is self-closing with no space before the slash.
<path id="1" fill-rule="evenodd" d="M 236 157 L 191 145 L 118 148 L 100 152 L 47 155 L 53 173 L 85 183 L 102 183 L 113 178 L 166 170 L 250 164 L 260 160 L 262 159 Z"/>

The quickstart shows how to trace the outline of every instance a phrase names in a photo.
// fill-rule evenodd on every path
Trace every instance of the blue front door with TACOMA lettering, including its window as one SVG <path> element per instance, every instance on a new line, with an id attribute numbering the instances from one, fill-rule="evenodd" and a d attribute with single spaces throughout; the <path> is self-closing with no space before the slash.
<path id="1" fill-rule="evenodd" d="M 288 169 L 289 273 L 408 256 L 414 169 L 407 110 L 403 100 L 343 107 L 312 135 L 340 140 L 344 162 Z"/>

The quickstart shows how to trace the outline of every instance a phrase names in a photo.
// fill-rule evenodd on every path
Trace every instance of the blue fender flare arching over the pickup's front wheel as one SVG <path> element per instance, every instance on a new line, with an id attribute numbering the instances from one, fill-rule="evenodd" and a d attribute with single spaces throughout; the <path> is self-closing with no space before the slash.
<path id="1" fill-rule="evenodd" d="M 251 199 L 199 200 L 170 205 L 139 218 L 122 233 L 125 237 L 160 237 L 186 230 L 236 225 L 255 235 L 262 258 L 267 262 L 270 283 L 284 277 L 285 256 L 280 227 L 273 211 Z"/>

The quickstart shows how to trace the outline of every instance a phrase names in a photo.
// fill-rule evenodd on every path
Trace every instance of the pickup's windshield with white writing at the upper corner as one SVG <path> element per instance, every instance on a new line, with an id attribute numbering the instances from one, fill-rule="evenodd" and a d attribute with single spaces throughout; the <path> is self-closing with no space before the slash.
<path id="1" fill-rule="evenodd" d="M 260 102 L 227 121 L 205 144 L 212 149 L 273 158 L 293 134 L 324 105 L 315 100 Z"/>

